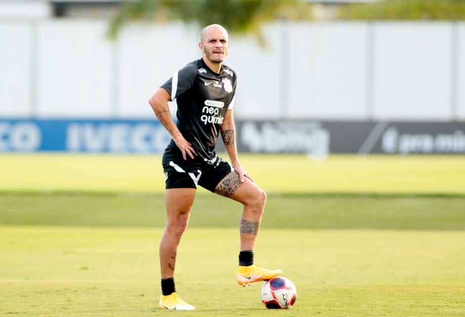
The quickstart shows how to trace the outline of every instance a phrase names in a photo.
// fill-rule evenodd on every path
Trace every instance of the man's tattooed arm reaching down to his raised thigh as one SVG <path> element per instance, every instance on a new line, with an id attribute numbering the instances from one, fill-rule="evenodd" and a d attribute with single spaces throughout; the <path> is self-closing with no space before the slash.
<path id="1" fill-rule="evenodd" d="M 247 177 L 252 182 L 254 182 L 254 179 L 249 175 L 249 173 L 246 172 L 246 170 L 239 162 L 236 148 L 236 127 L 234 125 L 232 109 L 226 111 L 226 115 L 224 116 L 223 123 L 220 125 L 219 130 L 221 132 L 221 138 L 223 139 L 224 147 L 228 153 L 229 160 L 231 161 L 231 165 L 239 175 L 239 180 L 241 183 L 244 182 L 244 177 Z"/>

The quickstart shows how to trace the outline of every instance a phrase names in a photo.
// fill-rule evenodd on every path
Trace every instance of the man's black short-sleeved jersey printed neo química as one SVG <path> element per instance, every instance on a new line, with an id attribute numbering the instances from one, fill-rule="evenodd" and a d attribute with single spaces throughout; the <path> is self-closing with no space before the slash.
<path id="1" fill-rule="evenodd" d="M 171 95 L 171 101 L 177 99 L 177 128 L 203 161 L 215 159 L 219 126 L 226 111 L 234 107 L 236 79 L 236 73 L 229 67 L 223 65 L 221 74 L 216 74 L 199 59 L 162 85 Z M 173 141 L 165 155 L 170 153 L 180 153 Z"/>

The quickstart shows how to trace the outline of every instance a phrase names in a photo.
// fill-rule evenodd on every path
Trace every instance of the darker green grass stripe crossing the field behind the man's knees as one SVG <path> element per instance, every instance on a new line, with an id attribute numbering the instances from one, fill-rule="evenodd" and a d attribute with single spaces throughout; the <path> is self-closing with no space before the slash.
<path id="1" fill-rule="evenodd" d="M 262 228 L 465 230 L 465 197 L 268 195 Z M 190 227 L 238 228 L 242 205 L 199 195 Z M 0 224 L 164 227 L 159 195 L 0 194 Z"/>

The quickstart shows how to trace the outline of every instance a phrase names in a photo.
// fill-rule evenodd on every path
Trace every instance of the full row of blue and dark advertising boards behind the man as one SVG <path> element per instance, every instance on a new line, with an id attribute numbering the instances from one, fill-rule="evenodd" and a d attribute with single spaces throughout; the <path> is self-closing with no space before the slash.
<path id="1" fill-rule="evenodd" d="M 236 120 L 243 153 L 465 154 L 465 122 Z M 163 153 L 157 120 L 1 119 L 1 152 Z M 216 152 L 225 152 L 219 140 Z"/>

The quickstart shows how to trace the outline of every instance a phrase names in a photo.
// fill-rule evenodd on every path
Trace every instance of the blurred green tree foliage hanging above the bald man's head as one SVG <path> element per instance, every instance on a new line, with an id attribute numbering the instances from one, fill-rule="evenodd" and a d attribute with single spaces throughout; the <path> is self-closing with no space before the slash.
<path id="1" fill-rule="evenodd" d="M 116 38 L 128 21 L 183 21 L 201 28 L 220 24 L 229 33 L 260 34 L 260 25 L 278 19 L 310 19 L 311 5 L 301 0 L 135 0 L 124 2 L 110 24 Z"/>

